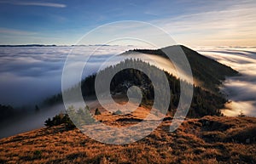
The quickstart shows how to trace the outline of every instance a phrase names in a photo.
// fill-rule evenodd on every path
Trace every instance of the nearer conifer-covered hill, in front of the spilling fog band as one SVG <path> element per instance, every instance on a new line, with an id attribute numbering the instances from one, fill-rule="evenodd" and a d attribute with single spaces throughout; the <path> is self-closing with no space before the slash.
<path id="1" fill-rule="evenodd" d="M 160 75 L 160 69 L 155 67 L 154 65 L 149 65 L 148 63 L 143 62 L 142 60 L 137 59 L 125 59 L 125 61 L 121 61 L 117 65 L 109 66 L 106 69 L 99 71 L 98 75 L 110 75 L 111 72 L 115 70 L 119 70 L 119 68 L 124 68 L 125 65 L 137 65 L 140 68 L 148 68 L 150 69 L 150 74 L 155 76 L 156 78 Z M 169 82 L 170 90 L 169 91 L 161 91 L 161 97 L 159 99 L 166 99 L 166 92 L 171 92 L 170 106 L 169 112 L 172 115 L 175 113 L 177 109 L 177 105 L 179 102 L 180 95 L 180 82 L 175 76 L 170 75 L 166 72 L 166 77 Z M 87 76 L 81 82 L 81 90 L 84 98 L 87 96 L 93 96 L 96 94 L 95 91 L 95 79 L 96 75 Z M 160 82 L 161 83 L 161 82 Z M 104 84 L 102 83 L 102 88 L 104 88 Z M 187 83 L 186 85 L 191 85 Z M 142 89 L 143 93 L 143 105 L 151 106 L 154 101 L 154 86 L 148 76 L 146 76 L 142 71 L 138 71 L 135 69 L 125 69 L 123 71 L 119 71 L 115 76 L 113 76 L 112 82 L 110 83 L 110 90 L 113 95 L 116 93 L 126 94 L 127 89 L 131 86 L 137 86 Z M 78 87 L 78 86 L 77 86 Z M 74 88 L 76 88 L 74 86 Z M 106 87 L 105 87 L 106 88 Z M 71 88 L 72 89 L 72 88 Z M 60 94 L 61 95 L 61 94 Z M 61 96 L 53 96 L 46 100 L 48 104 L 55 104 L 55 102 L 60 102 Z M 221 93 L 212 93 L 208 92 L 200 87 L 194 86 L 194 95 L 193 100 L 189 109 L 189 117 L 201 117 L 201 116 L 220 116 L 220 109 L 224 108 L 224 104 L 227 102 L 227 99 L 224 98 L 224 95 Z M 160 106 L 161 108 L 161 106 Z"/>

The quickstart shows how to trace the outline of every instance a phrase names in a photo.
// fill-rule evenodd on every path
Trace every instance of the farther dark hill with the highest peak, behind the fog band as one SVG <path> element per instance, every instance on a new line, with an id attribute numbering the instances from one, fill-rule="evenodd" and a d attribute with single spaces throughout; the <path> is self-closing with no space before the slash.
<path id="1" fill-rule="evenodd" d="M 169 46 L 160 49 L 134 49 L 126 52 L 125 54 L 132 54 L 132 52 L 139 52 L 143 54 L 153 54 L 167 58 L 164 52 L 176 53 L 177 49 L 183 49 L 184 54 L 189 60 L 189 64 L 196 80 L 199 80 L 201 87 L 207 88 L 213 92 L 219 91 L 218 87 L 224 81 L 225 76 L 236 76 L 237 71 L 233 70 L 230 66 L 218 63 L 214 59 L 209 59 L 196 51 L 187 48 L 183 45 Z"/>

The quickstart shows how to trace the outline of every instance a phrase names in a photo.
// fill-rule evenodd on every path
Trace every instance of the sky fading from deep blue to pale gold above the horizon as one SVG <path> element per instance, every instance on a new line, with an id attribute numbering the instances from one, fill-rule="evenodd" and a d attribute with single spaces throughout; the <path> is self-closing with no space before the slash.
<path id="1" fill-rule="evenodd" d="M 255 8 L 238 0 L 0 0 L 0 44 L 73 45 L 99 25 L 136 20 L 187 46 L 255 46 Z"/>

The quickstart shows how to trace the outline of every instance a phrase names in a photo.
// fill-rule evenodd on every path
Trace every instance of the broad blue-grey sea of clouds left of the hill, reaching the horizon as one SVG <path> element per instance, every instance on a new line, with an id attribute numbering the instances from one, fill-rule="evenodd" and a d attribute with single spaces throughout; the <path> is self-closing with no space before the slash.
<path id="1" fill-rule="evenodd" d="M 0 104 L 28 105 L 61 92 L 61 75 L 67 55 L 80 55 L 75 65 L 84 65 L 86 56 L 98 46 L 0 48 Z M 123 53 L 127 47 L 102 46 L 89 59 L 83 76 L 90 75 L 109 56 Z M 85 58 L 83 57 L 85 56 Z M 72 78 L 72 75 L 71 75 Z"/>

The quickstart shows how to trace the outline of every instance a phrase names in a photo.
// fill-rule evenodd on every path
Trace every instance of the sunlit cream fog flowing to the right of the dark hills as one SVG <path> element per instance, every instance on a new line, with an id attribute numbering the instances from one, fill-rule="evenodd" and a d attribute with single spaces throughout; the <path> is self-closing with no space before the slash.
<path id="1" fill-rule="evenodd" d="M 247 116 L 256 116 L 256 48 L 197 47 L 195 50 L 241 73 L 224 82 L 223 91 L 232 101 L 226 105 L 230 110 L 224 110 L 224 115 L 237 116 L 242 110 Z"/>

